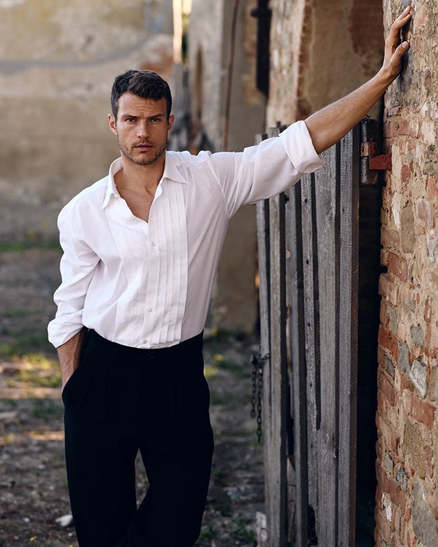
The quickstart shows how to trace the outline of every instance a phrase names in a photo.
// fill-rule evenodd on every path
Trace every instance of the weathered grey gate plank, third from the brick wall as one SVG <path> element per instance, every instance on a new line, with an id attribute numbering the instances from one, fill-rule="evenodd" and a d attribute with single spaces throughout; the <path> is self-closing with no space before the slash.
<path id="1" fill-rule="evenodd" d="M 318 517 L 318 440 L 320 411 L 320 331 L 318 247 L 314 175 L 301 179 L 302 270 L 305 304 L 305 360 L 307 394 L 307 465 L 309 505 Z"/>

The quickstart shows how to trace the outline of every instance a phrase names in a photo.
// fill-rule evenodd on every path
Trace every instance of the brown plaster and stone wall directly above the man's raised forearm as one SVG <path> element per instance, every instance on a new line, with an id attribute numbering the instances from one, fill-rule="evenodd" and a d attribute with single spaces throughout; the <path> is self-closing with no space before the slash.
<path id="1" fill-rule="evenodd" d="M 381 67 L 381 0 L 272 0 L 271 5 L 269 125 L 306 118 Z M 378 105 L 370 114 L 378 116 Z"/>

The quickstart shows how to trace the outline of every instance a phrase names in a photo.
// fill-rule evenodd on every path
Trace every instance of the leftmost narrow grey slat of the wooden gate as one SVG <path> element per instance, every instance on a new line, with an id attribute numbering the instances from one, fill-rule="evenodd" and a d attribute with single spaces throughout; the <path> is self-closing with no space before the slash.
<path id="1" fill-rule="evenodd" d="M 255 144 L 267 138 L 266 134 L 257 135 Z M 259 259 L 259 309 L 260 309 L 260 353 L 270 353 L 270 227 L 269 227 L 269 200 L 257 201 L 257 254 Z M 274 511 L 272 498 L 272 466 L 271 462 L 271 374 L 270 359 L 263 365 L 263 400 L 262 400 L 262 427 L 263 427 L 263 464 L 265 476 L 265 511 L 266 514 Z"/>

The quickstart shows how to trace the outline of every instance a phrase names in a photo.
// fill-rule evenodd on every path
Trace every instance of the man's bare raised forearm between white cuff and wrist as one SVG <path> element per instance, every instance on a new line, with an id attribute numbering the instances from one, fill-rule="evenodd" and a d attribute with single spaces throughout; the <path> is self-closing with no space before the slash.
<path id="1" fill-rule="evenodd" d="M 341 139 L 383 95 L 391 77 L 383 71 L 363 86 L 305 119 L 315 151 L 320 154 Z"/>

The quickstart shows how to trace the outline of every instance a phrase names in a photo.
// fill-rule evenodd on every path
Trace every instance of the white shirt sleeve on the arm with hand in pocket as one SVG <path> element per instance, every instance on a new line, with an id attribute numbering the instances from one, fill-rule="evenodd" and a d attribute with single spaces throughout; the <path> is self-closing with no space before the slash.
<path id="1" fill-rule="evenodd" d="M 55 348 L 70 340 L 82 329 L 83 304 L 93 272 L 99 262 L 99 256 L 77 238 L 70 208 L 60 212 L 57 225 L 60 229 L 60 244 L 64 251 L 60 262 L 62 283 L 53 294 L 57 312 L 47 327 L 49 342 Z"/>

